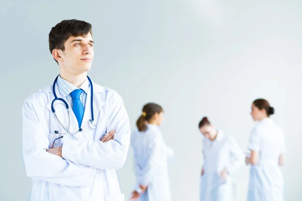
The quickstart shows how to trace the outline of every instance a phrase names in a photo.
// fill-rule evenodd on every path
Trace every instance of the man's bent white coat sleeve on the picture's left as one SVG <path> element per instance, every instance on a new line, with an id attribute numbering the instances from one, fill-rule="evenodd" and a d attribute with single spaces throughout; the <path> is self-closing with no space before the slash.
<path id="1" fill-rule="evenodd" d="M 66 186 L 93 184 L 98 169 L 73 164 L 46 152 L 49 149 L 48 133 L 43 130 L 33 104 L 27 100 L 22 116 L 23 157 L 29 177 Z"/>

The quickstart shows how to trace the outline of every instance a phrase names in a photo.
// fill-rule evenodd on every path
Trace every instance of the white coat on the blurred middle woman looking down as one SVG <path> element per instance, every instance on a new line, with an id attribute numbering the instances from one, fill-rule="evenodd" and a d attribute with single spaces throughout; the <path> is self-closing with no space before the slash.
<path id="1" fill-rule="evenodd" d="M 244 154 L 232 136 L 218 131 L 214 141 L 203 139 L 204 174 L 200 179 L 200 201 L 231 201 L 231 177 L 244 164 Z M 221 178 L 226 169 L 228 178 Z"/>

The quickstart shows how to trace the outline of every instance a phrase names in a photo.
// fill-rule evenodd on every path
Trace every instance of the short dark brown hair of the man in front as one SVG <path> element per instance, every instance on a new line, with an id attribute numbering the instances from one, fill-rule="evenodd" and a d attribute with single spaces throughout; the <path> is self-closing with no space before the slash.
<path id="1" fill-rule="evenodd" d="M 64 51 L 64 43 L 69 37 L 86 36 L 88 33 L 92 35 L 91 24 L 81 20 L 63 20 L 49 32 L 49 51 L 51 54 L 54 49 Z"/>

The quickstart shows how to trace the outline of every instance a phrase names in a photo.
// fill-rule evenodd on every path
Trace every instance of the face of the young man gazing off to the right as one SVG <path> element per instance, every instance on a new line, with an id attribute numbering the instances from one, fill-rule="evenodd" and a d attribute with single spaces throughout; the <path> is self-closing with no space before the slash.
<path id="1" fill-rule="evenodd" d="M 64 47 L 64 51 L 59 50 L 61 59 L 58 61 L 62 71 L 77 75 L 90 70 L 94 56 L 94 42 L 90 33 L 69 37 Z"/>

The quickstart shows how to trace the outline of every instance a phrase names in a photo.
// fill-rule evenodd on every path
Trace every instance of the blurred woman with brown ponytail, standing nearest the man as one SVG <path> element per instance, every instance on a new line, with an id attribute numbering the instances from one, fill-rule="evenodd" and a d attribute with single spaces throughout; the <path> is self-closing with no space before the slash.
<path id="1" fill-rule="evenodd" d="M 146 104 L 131 136 L 134 152 L 136 190 L 130 200 L 170 201 L 168 159 L 173 157 L 160 130 L 164 111 L 161 106 Z"/>

